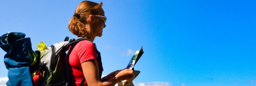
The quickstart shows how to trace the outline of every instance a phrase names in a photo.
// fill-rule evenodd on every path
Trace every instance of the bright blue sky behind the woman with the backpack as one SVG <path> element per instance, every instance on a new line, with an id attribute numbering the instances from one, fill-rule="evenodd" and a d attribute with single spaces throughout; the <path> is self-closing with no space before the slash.
<path id="1" fill-rule="evenodd" d="M 82 1 L 2 1 L 0 34 L 23 32 L 33 49 L 62 41 Z M 104 71 L 124 69 L 143 45 L 136 85 L 256 85 L 254 0 L 103 2 L 107 27 L 95 43 Z M 5 84 L 0 50 L 0 84 Z"/>

